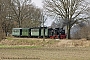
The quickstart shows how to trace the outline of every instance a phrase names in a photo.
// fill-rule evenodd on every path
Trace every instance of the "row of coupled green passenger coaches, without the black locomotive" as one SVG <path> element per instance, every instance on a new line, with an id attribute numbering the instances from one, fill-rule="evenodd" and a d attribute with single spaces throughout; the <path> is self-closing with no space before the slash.
<path id="1" fill-rule="evenodd" d="M 37 27 L 37 28 L 13 28 L 12 36 L 16 37 L 49 37 L 51 36 L 51 30 L 47 27 Z"/>

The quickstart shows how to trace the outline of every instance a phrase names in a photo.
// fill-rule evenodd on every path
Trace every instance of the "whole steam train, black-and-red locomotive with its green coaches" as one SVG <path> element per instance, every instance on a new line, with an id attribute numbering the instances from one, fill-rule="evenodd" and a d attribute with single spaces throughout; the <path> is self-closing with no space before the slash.
<path id="1" fill-rule="evenodd" d="M 12 36 L 14 37 L 30 37 L 30 38 L 51 38 L 51 39 L 65 39 L 66 34 L 63 28 L 13 28 Z"/>

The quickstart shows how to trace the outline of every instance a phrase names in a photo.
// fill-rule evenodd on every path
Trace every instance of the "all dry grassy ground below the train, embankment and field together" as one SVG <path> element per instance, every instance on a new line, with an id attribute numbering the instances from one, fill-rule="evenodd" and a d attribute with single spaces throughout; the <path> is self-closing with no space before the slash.
<path id="1" fill-rule="evenodd" d="M 7 38 L 0 60 L 90 60 L 90 41 Z"/>

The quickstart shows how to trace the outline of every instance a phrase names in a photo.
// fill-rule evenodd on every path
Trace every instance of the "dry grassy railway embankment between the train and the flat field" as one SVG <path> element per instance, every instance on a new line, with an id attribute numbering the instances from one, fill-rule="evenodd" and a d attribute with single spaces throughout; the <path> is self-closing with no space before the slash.
<path id="1" fill-rule="evenodd" d="M 6 38 L 0 45 L 8 46 L 45 46 L 45 47 L 89 47 L 90 40 L 86 39 L 43 39 L 40 38 Z"/>

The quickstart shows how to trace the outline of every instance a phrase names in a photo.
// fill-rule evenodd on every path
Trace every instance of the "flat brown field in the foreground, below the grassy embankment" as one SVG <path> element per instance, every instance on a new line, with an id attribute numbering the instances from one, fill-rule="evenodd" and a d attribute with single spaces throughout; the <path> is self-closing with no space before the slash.
<path id="1" fill-rule="evenodd" d="M 90 47 L 1 48 L 0 60 L 90 60 Z"/>

